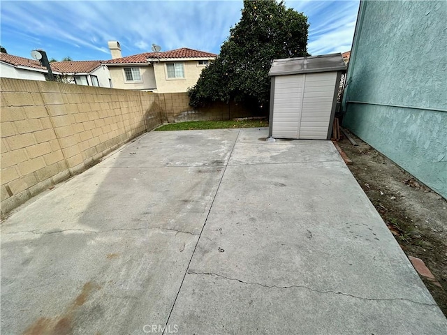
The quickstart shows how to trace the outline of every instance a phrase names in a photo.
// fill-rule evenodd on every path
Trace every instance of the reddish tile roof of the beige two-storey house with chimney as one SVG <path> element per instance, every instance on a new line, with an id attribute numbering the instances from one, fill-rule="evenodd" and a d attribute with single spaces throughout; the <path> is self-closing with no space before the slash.
<path id="1" fill-rule="evenodd" d="M 193 50 L 188 47 L 180 49 L 163 51 L 163 52 L 145 52 L 142 54 L 134 54 L 132 56 L 110 59 L 110 61 L 103 61 L 104 64 L 129 64 L 129 63 L 147 63 L 146 59 L 166 59 L 166 58 L 214 58 L 217 54 L 210 52 Z"/>

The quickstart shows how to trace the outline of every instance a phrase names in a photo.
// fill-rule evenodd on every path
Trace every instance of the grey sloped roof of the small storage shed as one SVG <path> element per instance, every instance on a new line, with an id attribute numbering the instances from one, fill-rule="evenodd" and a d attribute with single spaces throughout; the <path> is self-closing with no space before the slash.
<path id="1" fill-rule="evenodd" d="M 299 58 L 275 59 L 269 75 L 298 75 L 301 73 L 346 70 L 342 54 L 323 54 Z"/>

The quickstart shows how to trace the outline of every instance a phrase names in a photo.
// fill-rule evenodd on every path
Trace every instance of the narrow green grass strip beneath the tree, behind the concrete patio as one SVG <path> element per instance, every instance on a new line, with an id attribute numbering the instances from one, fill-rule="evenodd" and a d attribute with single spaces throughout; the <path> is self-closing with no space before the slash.
<path id="1" fill-rule="evenodd" d="M 226 128 L 260 128 L 268 127 L 267 120 L 243 121 L 186 121 L 177 124 L 165 124 L 155 131 L 193 131 L 199 129 L 226 129 Z"/>

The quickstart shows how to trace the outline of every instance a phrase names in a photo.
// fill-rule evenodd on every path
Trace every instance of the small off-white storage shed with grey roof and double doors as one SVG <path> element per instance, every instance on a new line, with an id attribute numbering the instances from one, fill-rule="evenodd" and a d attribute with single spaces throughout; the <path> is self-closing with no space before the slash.
<path id="1" fill-rule="evenodd" d="M 342 54 L 275 59 L 270 68 L 270 137 L 330 140 Z"/>

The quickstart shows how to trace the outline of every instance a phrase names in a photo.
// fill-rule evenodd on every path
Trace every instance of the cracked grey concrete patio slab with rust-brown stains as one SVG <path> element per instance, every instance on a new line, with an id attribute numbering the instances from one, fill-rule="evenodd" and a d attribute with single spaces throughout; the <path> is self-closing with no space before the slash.
<path id="1" fill-rule="evenodd" d="M 147 133 L 15 212 L 2 334 L 445 334 L 332 142 L 267 135 Z"/>

